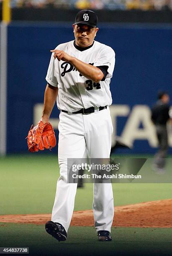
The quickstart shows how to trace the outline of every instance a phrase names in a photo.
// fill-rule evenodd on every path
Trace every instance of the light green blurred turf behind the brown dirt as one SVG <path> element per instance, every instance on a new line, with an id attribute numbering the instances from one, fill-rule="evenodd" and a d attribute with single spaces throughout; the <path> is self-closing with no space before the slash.
<path id="1" fill-rule="evenodd" d="M 171 168 L 172 159 L 169 165 Z M 146 166 L 145 171 L 149 167 Z M 0 158 L 0 214 L 51 213 L 58 177 L 58 159 L 54 155 L 30 154 Z M 114 205 L 172 197 L 170 183 L 112 185 Z M 91 209 L 92 200 L 93 184 L 84 184 L 84 188 L 77 190 L 74 210 Z"/>

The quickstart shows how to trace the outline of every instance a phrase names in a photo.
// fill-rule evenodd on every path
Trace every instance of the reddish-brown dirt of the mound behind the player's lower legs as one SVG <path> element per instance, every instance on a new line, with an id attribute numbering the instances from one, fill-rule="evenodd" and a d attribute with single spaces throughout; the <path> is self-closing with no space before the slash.
<path id="1" fill-rule="evenodd" d="M 0 215 L 0 222 L 45 224 L 51 214 Z M 73 226 L 94 226 L 93 211 L 73 212 Z M 113 226 L 172 228 L 172 199 L 115 207 Z"/>

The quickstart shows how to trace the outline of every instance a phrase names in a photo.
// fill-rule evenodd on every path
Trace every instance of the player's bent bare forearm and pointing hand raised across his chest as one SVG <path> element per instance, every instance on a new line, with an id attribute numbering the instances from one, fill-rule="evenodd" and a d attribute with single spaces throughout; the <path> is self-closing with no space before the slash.
<path id="1" fill-rule="evenodd" d="M 96 83 L 100 82 L 101 79 L 104 78 L 103 72 L 97 67 L 80 61 L 79 59 L 76 59 L 75 57 L 67 54 L 64 51 L 55 49 L 51 50 L 51 52 L 54 52 L 54 59 L 57 58 L 58 61 L 62 60 L 70 62 L 78 70 L 79 73 L 81 73 L 84 77 L 93 80 Z"/>

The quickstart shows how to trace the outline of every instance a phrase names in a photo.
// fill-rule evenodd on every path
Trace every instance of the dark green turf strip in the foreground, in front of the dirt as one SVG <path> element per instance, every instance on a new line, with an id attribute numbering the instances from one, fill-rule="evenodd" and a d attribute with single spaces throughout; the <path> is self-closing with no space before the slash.
<path id="1" fill-rule="evenodd" d="M 167 256 L 172 251 L 169 228 L 112 228 L 113 241 L 103 243 L 93 227 L 70 227 L 65 242 L 48 235 L 44 225 L 2 223 L 0 230 L 0 247 L 29 247 L 29 255 Z"/>

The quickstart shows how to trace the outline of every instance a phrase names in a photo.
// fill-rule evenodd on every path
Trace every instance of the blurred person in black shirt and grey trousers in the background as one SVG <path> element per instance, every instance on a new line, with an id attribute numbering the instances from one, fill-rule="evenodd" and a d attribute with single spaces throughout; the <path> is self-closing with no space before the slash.
<path id="1" fill-rule="evenodd" d="M 158 100 L 152 108 L 152 122 L 155 125 L 157 139 L 159 143 L 159 150 L 154 156 L 153 168 L 158 173 L 165 172 L 165 158 L 167 157 L 168 150 L 168 137 L 167 137 L 167 121 L 169 116 L 169 94 L 167 92 L 159 92 Z"/>

